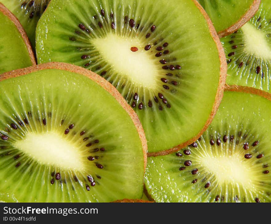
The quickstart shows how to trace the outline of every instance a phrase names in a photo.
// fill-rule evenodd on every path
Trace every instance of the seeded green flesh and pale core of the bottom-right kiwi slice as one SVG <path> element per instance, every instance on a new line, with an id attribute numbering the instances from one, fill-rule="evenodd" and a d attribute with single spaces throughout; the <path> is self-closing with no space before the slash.
<path id="1" fill-rule="evenodd" d="M 148 193 L 156 202 L 271 202 L 270 111 L 258 95 L 225 92 L 198 141 L 148 157 Z"/>

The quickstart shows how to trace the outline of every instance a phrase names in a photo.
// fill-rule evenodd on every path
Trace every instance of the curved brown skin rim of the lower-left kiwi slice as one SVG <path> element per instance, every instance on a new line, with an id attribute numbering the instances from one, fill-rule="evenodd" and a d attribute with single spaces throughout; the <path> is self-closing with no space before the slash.
<path id="1" fill-rule="evenodd" d="M 131 108 L 131 106 L 125 101 L 125 99 L 122 97 L 122 95 L 117 91 L 117 89 L 107 80 L 105 80 L 103 77 L 100 75 L 97 75 L 96 73 L 89 71 L 85 68 L 72 65 L 72 64 L 67 64 L 67 63 L 61 63 L 61 62 L 49 62 L 45 64 L 38 64 L 34 66 L 30 66 L 28 68 L 22 68 L 22 69 L 17 69 L 14 71 L 8 71 L 0 75 L 0 82 L 5 80 L 5 79 L 10 79 L 10 78 L 15 78 L 19 77 L 22 75 L 27 75 L 30 72 L 34 71 L 40 71 L 40 70 L 45 70 L 45 69 L 60 69 L 60 70 L 65 70 L 65 71 L 71 71 L 75 72 L 84 76 L 87 76 L 91 80 L 93 80 L 95 83 L 98 83 L 100 86 L 102 86 L 106 91 L 108 91 L 118 102 L 119 104 L 123 107 L 124 110 L 127 111 L 127 113 L 130 115 L 133 123 L 136 126 L 137 132 L 139 133 L 139 137 L 142 143 L 142 148 L 143 148 L 143 156 L 144 156 L 144 172 L 146 171 L 146 166 L 147 166 L 147 151 L 148 151 L 148 146 L 147 146 L 147 139 L 145 137 L 145 133 L 143 130 L 143 127 L 140 123 L 140 120 L 136 114 L 136 112 Z"/>

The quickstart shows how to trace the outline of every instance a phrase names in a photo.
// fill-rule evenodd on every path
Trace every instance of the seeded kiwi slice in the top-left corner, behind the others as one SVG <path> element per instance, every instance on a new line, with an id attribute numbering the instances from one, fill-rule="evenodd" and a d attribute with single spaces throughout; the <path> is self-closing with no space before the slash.
<path id="1" fill-rule="evenodd" d="M 35 48 L 36 26 L 50 0 L 1 0 L 1 2 L 19 19 Z"/>

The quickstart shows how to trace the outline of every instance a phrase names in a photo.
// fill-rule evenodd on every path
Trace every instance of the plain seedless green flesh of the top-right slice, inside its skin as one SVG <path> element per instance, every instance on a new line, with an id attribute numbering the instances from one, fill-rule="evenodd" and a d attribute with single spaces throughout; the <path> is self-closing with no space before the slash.
<path id="1" fill-rule="evenodd" d="M 211 18 L 217 33 L 235 24 L 254 0 L 197 0 Z"/>

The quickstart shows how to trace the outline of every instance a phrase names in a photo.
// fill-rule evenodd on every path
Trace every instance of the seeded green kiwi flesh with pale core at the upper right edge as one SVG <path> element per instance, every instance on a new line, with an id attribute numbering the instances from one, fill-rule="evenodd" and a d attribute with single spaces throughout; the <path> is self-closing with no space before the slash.
<path id="1" fill-rule="evenodd" d="M 262 0 L 257 14 L 237 33 L 221 38 L 228 62 L 226 82 L 271 92 L 271 2 Z"/>

